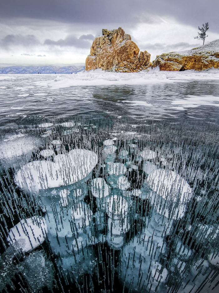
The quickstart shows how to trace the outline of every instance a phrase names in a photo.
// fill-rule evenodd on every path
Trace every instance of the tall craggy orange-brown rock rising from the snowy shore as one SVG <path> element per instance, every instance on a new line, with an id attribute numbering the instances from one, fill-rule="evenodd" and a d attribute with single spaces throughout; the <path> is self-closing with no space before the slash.
<path id="1" fill-rule="evenodd" d="M 85 70 L 101 68 L 107 71 L 138 72 L 146 69 L 150 63 L 150 54 L 140 52 L 122 28 L 108 31 L 103 29 L 102 36 L 95 38 L 90 55 L 85 61 Z"/>

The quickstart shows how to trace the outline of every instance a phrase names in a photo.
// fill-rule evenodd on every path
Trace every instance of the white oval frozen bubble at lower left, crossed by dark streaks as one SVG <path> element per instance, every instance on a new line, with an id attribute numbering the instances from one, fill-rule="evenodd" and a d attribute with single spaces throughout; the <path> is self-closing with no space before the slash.
<path id="1" fill-rule="evenodd" d="M 9 244 L 24 252 L 39 246 L 45 240 L 47 225 L 44 218 L 28 218 L 21 220 L 10 231 L 7 238 Z"/>

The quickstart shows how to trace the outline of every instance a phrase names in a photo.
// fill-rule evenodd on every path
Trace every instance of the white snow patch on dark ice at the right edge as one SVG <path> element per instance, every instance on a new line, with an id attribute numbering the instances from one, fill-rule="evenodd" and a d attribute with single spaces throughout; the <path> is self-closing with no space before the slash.
<path id="1" fill-rule="evenodd" d="M 179 105 L 171 107 L 177 110 L 185 110 L 185 108 L 196 108 L 199 106 L 216 106 L 219 107 L 219 97 L 214 96 L 192 96 L 188 95 L 188 98 L 176 99 L 171 101 L 172 105 Z"/>

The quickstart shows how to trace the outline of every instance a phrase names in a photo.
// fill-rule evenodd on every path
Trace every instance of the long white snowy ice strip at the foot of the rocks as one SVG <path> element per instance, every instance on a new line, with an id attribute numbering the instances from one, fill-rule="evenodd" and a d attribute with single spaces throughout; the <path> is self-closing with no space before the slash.
<path id="1" fill-rule="evenodd" d="M 153 68 L 147 71 L 122 73 L 105 72 L 102 69 L 81 71 L 77 74 L 58 75 L 53 80 L 36 82 L 41 87 L 50 89 L 68 88 L 71 86 L 99 86 L 99 85 L 140 85 L 151 83 L 188 82 L 190 80 L 219 80 L 219 70 L 209 69 L 201 72 L 186 71 L 160 71 Z"/>

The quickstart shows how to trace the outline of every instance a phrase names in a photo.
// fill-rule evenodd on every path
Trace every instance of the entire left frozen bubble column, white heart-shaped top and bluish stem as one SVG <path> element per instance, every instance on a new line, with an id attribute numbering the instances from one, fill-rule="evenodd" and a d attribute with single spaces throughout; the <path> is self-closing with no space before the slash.
<path id="1" fill-rule="evenodd" d="M 45 153 L 45 154 L 44 154 Z M 62 271 L 77 278 L 93 266 L 91 247 L 95 245 L 93 214 L 83 201 L 82 187 L 97 164 L 97 154 L 87 149 L 73 149 L 65 154 L 47 156 L 25 164 L 15 174 L 16 183 L 35 194 L 45 207 L 47 237 Z M 86 185 L 86 184 L 84 184 Z M 53 190 L 51 190 L 53 189 Z"/>

